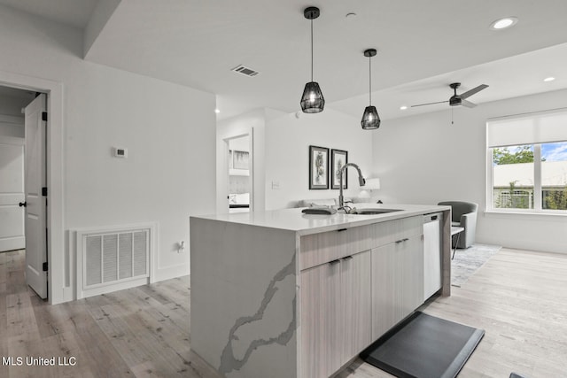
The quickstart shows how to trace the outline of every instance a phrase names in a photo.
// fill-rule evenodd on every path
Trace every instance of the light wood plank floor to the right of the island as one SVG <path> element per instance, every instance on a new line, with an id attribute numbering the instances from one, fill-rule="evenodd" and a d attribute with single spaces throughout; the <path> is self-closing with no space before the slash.
<path id="1" fill-rule="evenodd" d="M 567 255 L 503 249 L 422 311 L 485 329 L 459 378 L 567 377 Z M 360 359 L 339 378 L 391 377 Z"/>

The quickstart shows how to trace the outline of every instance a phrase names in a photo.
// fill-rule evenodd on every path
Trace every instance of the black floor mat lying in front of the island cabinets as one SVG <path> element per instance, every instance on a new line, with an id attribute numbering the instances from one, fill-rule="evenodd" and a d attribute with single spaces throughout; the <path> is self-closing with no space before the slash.
<path id="1" fill-rule="evenodd" d="M 401 378 L 454 378 L 484 335 L 483 329 L 415 312 L 361 359 Z"/>

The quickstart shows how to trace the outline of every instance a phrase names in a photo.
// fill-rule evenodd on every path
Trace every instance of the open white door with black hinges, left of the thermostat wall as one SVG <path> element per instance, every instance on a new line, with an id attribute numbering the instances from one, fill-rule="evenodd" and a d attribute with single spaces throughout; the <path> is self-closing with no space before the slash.
<path id="1" fill-rule="evenodd" d="M 46 95 L 35 97 L 26 107 L 26 282 L 42 298 L 47 297 L 45 128 Z"/>

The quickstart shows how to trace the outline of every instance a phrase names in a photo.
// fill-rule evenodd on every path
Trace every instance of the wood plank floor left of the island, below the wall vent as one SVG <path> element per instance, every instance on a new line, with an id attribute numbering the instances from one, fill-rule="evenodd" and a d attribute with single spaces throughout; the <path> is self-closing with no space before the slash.
<path id="1" fill-rule="evenodd" d="M 62 305 L 27 288 L 24 251 L 0 253 L 0 377 L 217 378 L 190 350 L 189 276 Z M 52 357 L 75 366 L 26 366 Z"/>

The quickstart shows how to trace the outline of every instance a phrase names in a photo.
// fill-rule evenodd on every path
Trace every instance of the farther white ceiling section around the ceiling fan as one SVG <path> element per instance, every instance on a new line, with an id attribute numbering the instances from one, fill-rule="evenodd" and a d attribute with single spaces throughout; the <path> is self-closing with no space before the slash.
<path id="1" fill-rule="evenodd" d="M 567 43 L 378 90 L 373 92 L 372 102 L 382 109 L 380 112 L 382 119 L 387 120 L 450 109 L 447 103 L 417 108 L 410 106 L 447 101 L 453 95 L 453 89 L 449 88 L 452 82 L 462 82 L 457 93 L 465 92 L 479 84 L 488 84 L 489 88 L 469 98 L 474 104 L 565 89 L 567 88 L 565 62 L 567 62 Z M 543 81 L 548 77 L 555 77 L 555 81 Z M 567 106 L 567 98 L 565 100 L 565 106 Z M 332 107 L 338 111 L 361 117 L 363 110 L 361 104 L 368 101 L 369 96 L 365 94 L 338 101 L 332 104 Z M 401 105 L 407 105 L 408 109 L 400 110 Z M 474 109 L 462 106 L 454 110 L 455 112 L 474 112 Z"/>

